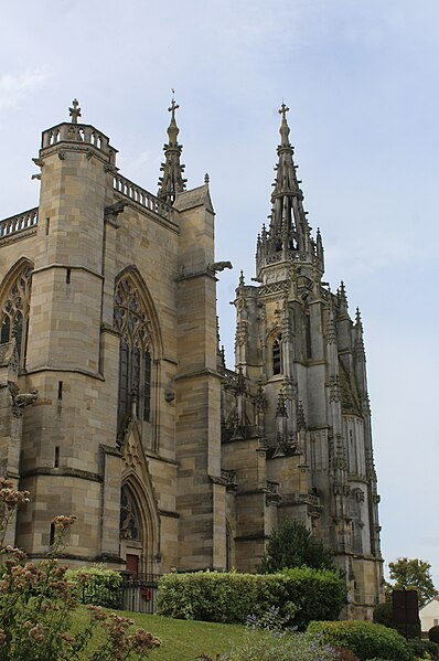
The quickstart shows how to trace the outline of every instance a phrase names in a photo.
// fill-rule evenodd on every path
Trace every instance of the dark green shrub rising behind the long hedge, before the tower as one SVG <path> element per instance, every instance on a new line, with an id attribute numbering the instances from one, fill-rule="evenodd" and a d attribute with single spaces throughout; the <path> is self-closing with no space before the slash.
<path id="1" fill-rule="evenodd" d="M 263 574 L 275 574 L 286 567 L 334 569 L 332 551 L 318 540 L 301 521 L 282 521 L 270 536 L 263 556 Z"/>

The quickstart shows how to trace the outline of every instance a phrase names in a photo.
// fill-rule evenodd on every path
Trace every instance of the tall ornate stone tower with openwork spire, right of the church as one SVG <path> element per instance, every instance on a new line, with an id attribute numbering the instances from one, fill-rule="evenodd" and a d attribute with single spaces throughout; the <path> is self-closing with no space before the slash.
<path id="1" fill-rule="evenodd" d="M 257 238 L 257 285 L 236 290 L 236 371 L 225 371 L 224 468 L 234 563 L 255 571 L 267 536 L 298 519 L 330 545 L 350 584 L 349 614 L 381 594 L 378 495 L 363 327 L 332 294 L 320 231 L 303 210 L 282 104 L 269 226 Z"/>

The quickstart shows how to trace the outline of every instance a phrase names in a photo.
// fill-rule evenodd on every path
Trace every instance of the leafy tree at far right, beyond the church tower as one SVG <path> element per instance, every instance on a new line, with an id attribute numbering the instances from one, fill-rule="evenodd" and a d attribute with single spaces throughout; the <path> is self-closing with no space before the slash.
<path id="1" fill-rule="evenodd" d="M 419 605 L 422 607 L 430 601 L 438 590 L 431 578 L 430 563 L 416 558 L 398 557 L 394 563 L 388 563 L 393 589 L 418 590 Z"/>

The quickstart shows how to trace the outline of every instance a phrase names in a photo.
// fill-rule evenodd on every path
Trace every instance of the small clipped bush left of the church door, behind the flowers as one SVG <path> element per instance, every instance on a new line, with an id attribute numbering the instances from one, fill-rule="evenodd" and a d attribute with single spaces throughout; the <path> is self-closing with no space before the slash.
<path id="1" fill-rule="evenodd" d="M 118 572 L 103 567 L 82 567 L 67 569 L 66 579 L 77 584 L 81 604 L 119 608 L 122 577 Z"/>

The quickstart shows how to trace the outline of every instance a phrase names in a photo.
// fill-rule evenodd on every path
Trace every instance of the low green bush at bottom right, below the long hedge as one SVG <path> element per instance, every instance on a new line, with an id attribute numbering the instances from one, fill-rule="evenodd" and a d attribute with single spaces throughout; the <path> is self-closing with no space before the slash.
<path id="1" fill-rule="evenodd" d="M 324 642 L 353 651 L 361 661 L 411 661 L 411 651 L 397 631 L 374 622 L 310 622 L 308 631 L 321 633 Z"/>

